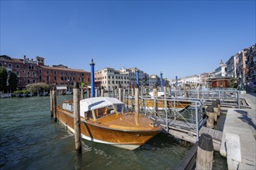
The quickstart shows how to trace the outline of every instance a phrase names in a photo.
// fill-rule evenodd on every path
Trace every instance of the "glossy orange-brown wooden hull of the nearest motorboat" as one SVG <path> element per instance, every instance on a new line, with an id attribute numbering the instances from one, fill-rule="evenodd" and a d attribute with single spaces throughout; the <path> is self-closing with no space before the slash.
<path id="1" fill-rule="evenodd" d="M 70 131 L 74 133 L 74 115 L 67 110 L 57 108 L 57 117 L 62 124 L 64 124 Z M 122 118 L 122 117 L 115 117 Z M 100 121 L 99 121 L 100 122 Z M 119 148 L 126 148 L 133 150 L 144 145 L 145 142 L 153 138 L 154 135 L 161 131 L 161 127 L 153 130 L 136 129 L 126 130 L 118 129 L 115 126 L 112 128 L 102 127 L 101 123 L 97 121 L 85 121 L 81 117 L 81 137 L 88 141 L 95 141 L 108 145 L 113 145 Z"/>

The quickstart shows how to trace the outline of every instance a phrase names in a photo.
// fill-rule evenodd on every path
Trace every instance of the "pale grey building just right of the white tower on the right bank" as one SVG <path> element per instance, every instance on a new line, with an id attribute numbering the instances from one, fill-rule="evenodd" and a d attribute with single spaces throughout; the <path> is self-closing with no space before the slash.
<path id="1" fill-rule="evenodd" d="M 239 62 L 238 53 L 230 56 L 227 60 L 227 77 L 237 78 L 237 63 Z"/>

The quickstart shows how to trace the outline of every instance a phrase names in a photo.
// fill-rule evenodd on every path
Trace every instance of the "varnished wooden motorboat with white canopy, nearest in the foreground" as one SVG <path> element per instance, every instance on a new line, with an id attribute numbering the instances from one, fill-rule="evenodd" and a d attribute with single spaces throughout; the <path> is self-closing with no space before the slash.
<path id="1" fill-rule="evenodd" d="M 130 113 L 116 98 L 80 100 L 80 116 L 82 138 L 130 150 L 162 130 L 155 117 Z M 74 133 L 73 101 L 63 101 L 57 107 L 57 118 Z"/>

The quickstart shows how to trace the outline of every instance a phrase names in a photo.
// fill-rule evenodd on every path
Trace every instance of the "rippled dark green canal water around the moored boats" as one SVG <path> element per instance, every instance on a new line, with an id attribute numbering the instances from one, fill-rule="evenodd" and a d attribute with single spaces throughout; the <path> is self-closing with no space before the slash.
<path id="1" fill-rule="evenodd" d="M 57 104 L 71 98 L 57 96 Z M 173 169 L 190 148 L 162 133 L 134 151 L 82 139 L 78 161 L 74 135 L 50 117 L 50 97 L 0 99 L 1 169 Z M 217 152 L 213 169 L 227 169 Z"/>

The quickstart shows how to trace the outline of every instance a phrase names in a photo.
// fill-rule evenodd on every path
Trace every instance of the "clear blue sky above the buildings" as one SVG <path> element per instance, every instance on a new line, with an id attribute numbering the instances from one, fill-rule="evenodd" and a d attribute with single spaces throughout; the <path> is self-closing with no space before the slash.
<path id="1" fill-rule="evenodd" d="M 252 1 L 1 1 L 1 55 L 175 79 L 255 43 Z"/>

